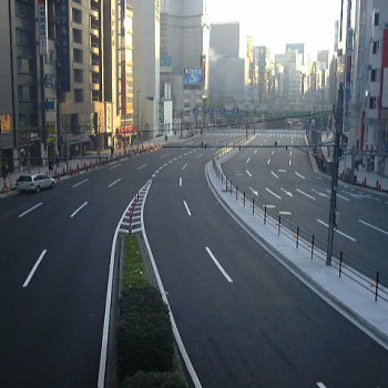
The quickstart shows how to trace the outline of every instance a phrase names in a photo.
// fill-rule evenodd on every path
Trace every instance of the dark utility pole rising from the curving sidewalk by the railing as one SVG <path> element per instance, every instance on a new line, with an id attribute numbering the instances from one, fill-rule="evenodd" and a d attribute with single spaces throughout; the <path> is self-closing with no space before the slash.
<path id="1" fill-rule="evenodd" d="M 336 109 L 336 133 L 333 155 L 331 169 L 331 195 L 330 195 L 330 213 L 329 213 L 329 231 L 327 237 L 327 256 L 326 265 L 331 265 L 334 232 L 337 226 L 337 190 L 338 190 L 338 164 L 339 164 L 339 137 L 343 132 L 343 114 L 344 114 L 344 83 L 339 83 L 337 109 Z"/>

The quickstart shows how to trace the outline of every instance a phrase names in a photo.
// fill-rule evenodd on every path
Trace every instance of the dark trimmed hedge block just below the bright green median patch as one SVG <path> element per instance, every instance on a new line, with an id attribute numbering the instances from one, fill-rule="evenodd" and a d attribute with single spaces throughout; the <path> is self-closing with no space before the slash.
<path id="1" fill-rule="evenodd" d="M 122 294 L 119 308 L 120 380 L 139 370 L 173 370 L 173 333 L 167 306 L 159 290 L 151 286 L 129 288 Z"/>

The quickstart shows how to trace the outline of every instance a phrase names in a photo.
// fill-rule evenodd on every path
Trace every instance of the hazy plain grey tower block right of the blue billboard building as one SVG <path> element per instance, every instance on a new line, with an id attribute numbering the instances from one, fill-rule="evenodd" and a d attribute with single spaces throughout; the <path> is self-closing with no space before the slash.
<path id="1" fill-rule="evenodd" d="M 239 22 L 211 25 L 210 99 L 223 105 L 223 100 L 244 104 L 248 80 L 247 35 Z"/>

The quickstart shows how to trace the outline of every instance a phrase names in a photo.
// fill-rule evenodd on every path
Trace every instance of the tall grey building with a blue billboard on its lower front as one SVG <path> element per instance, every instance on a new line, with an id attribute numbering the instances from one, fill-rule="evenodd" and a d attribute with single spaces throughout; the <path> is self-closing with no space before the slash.
<path id="1" fill-rule="evenodd" d="M 207 99 L 208 40 L 210 27 L 204 0 L 162 1 L 163 111 L 166 112 L 167 106 L 172 106 L 175 122 L 182 120 L 186 127 L 202 126 L 203 123 Z"/>

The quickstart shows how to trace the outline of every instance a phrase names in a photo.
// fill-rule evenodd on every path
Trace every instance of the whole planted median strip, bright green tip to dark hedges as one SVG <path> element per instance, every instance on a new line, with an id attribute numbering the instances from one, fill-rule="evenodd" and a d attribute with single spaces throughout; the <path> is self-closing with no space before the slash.
<path id="1" fill-rule="evenodd" d="M 174 337 L 169 309 L 150 286 L 139 241 L 124 244 L 118 318 L 118 376 L 122 388 L 186 388 L 174 371 Z"/>

